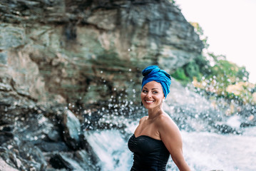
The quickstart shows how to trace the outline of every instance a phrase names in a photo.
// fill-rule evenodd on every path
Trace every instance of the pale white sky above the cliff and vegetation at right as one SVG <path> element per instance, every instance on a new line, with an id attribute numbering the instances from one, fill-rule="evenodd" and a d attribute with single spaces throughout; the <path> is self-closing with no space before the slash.
<path id="1" fill-rule="evenodd" d="M 256 0 L 175 0 L 187 21 L 208 36 L 208 50 L 245 66 L 256 83 Z"/>

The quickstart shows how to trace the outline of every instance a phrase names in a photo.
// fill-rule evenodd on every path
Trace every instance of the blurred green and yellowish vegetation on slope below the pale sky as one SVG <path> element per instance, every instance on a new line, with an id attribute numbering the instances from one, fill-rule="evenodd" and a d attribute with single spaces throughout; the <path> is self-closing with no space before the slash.
<path id="1" fill-rule="evenodd" d="M 197 23 L 191 23 L 205 45 L 203 54 L 178 68 L 173 78 L 193 85 L 208 94 L 227 99 L 236 99 L 241 103 L 255 103 L 255 85 L 248 82 L 249 72 L 245 66 L 227 61 L 225 56 L 208 51 L 207 37 Z"/>

